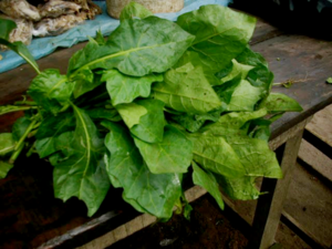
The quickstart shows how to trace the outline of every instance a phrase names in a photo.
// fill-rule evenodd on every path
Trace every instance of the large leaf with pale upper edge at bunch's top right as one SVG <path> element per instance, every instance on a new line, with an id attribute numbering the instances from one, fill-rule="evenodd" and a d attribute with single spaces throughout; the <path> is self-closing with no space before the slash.
<path id="1" fill-rule="evenodd" d="M 256 19 L 211 4 L 181 14 L 177 24 L 196 37 L 191 49 L 206 64 L 211 64 L 216 73 L 247 46 Z"/>

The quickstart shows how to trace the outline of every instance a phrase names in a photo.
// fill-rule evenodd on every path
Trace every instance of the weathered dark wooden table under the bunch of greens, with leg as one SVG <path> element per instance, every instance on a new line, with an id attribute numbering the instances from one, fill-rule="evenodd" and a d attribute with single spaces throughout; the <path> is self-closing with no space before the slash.
<path id="1" fill-rule="evenodd" d="M 270 146 L 277 152 L 284 178 L 263 179 L 261 190 L 270 194 L 258 200 L 255 229 L 249 238 L 252 248 L 264 249 L 274 242 L 303 128 L 314 113 L 332 103 L 332 85 L 325 83 L 332 76 L 332 43 L 284 33 L 260 20 L 251 45 L 269 62 L 274 82 L 307 79 L 291 89 L 272 90 L 298 100 L 304 111 L 288 113 L 272 125 Z M 38 63 L 41 70 L 58 68 L 65 73 L 69 58 L 83 46 L 84 43 L 59 50 Z M 0 104 L 20 100 L 34 76 L 29 65 L 0 74 Z M 9 131 L 19 115 L 2 116 L 0 132 Z M 187 193 L 191 200 L 204 194 L 199 188 Z M 125 204 L 118 189 L 110 190 L 92 218 L 86 217 L 86 208 L 77 199 L 63 204 L 52 196 L 52 167 L 37 158 L 18 162 L 9 176 L 0 180 L 0 247 L 74 248 L 89 242 L 83 247 L 103 248 L 123 237 L 121 232 L 129 235 L 154 221 Z"/>

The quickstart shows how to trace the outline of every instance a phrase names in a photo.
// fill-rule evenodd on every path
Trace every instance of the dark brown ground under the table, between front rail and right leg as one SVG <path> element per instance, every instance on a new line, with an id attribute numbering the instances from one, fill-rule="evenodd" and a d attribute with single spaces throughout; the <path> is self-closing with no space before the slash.
<path id="1" fill-rule="evenodd" d="M 194 210 L 190 220 L 181 215 L 163 224 L 157 222 L 133 236 L 121 240 L 108 249 L 146 249 L 146 248 L 183 248 L 183 249 L 241 249 L 248 239 L 226 218 L 207 195 L 191 204 Z"/>

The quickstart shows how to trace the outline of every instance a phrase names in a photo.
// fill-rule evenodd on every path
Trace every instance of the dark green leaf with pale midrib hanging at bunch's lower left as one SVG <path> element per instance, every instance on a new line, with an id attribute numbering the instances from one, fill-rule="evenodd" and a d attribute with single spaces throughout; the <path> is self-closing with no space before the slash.
<path id="1" fill-rule="evenodd" d="M 89 216 L 92 216 L 110 188 L 103 160 L 105 146 L 85 112 L 75 105 L 72 107 L 76 128 L 72 142 L 62 151 L 65 157 L 54 165 L 54 193 L 64 201 L 76 196 L 86 204 Z"/>

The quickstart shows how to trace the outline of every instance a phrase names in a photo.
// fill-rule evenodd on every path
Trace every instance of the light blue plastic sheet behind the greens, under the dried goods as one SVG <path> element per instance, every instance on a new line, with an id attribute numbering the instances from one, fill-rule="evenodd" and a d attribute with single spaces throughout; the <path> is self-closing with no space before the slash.
<path id="1" fill-rule="evenodd" d="M 157 17 L 175 21 L 178 15 L 198 9 L 206 4 L 228 6 L 231 0 L 185 0 L 183 10 L 176 13 L 159 13 Z M 33 39 L 28 46 L 35 60 L 52 53 L 56 48 L 70 48 L 79 42 L 86 41 L 87 37 L 95 37 L 97 30 L 104 35 L 108 35 L 120 21 L 111 18 L 106 12 L 105 2 L 95 2 L 103 9 L 103 14 L 96 17 L 95 20 L 85 21 L 84 24 L 77 25 L 65 33 L 58 37 Z M 24 63 L 24 60 L 12 51 L 0 53 L 0 73 L 14 69 Z"/>

